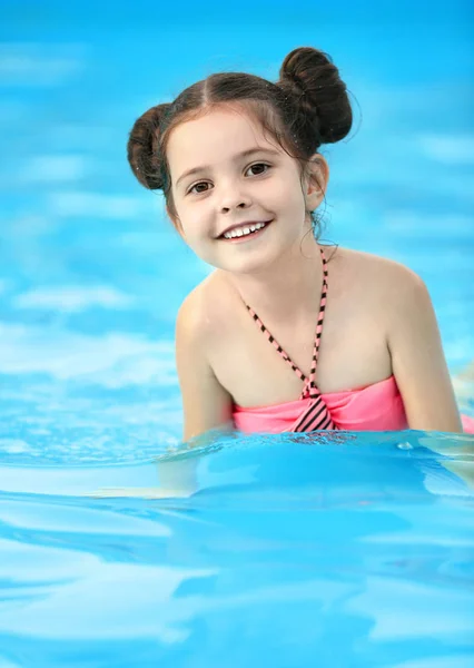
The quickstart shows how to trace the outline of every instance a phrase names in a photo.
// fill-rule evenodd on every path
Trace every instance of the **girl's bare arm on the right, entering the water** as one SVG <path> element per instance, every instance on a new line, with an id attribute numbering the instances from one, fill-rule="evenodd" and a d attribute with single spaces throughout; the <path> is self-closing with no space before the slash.
<path id="1" fill-rule="evenodd" d="M 409 429 L 462 432 L 453 385 L 428 291 L 401 267 L 388 346 Z"/>

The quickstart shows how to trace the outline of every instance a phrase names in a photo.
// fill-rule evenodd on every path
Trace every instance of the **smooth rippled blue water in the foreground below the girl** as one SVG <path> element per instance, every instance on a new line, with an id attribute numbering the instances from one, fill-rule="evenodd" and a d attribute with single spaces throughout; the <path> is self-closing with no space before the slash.
<path id="1" fill-rule="evenodd" d="M 121 466 L 23 455 L 0 470 L 0 657 L 467 665 L 473 470 L 473 436 L 418 432 L 223 439 Z"/>

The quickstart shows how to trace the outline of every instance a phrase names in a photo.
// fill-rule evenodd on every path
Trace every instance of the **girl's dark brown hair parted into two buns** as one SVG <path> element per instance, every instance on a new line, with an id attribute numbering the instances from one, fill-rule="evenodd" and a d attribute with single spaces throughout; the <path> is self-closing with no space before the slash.
<path id="1" fill-rule="evenodd" d="M 240 72 L 210 75 L 186 88 L 175 101 L 148 109 L 130 131 L 130 167 L 142 186 L 164 190 L 172 216 L 176 209 L 166 157 L 169 134 L 177 125 L 223 104 L 245 106 L 303 169 L 323 144 L 344 139 L 353 122 L 346 86 L 330 57 L 317 49 L 300 47 L 288 53 L 276 84 Z"/>

